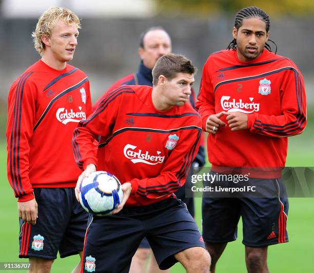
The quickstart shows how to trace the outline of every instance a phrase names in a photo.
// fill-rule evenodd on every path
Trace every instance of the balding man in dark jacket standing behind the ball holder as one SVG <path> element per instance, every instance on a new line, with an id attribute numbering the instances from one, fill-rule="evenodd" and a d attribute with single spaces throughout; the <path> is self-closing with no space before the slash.
<path id="1" fill-rule="evenodd" d="M 171 53 L 171 39 L 169 34 L 162 27 L 150 27 L 145 30 L 140 36 L 140 47 L 138 53 L 141 57 L 141 64 L 139 70 L 136 73 L 129 74 L 124 76 L 122 79 L 117 80 L 112 84 L 107 91 L 100 97 L 100 99 L 93 105 L 93 110 L 103 101 L 108 92 L 111 92 L 113 89 L 117 88 L 120 85 L 148 85 L 152 86 L 152 69 L 156 64 L 157 60 L 168 53 Z M 195 106 L 195 97 L 193 90 L 189 97 L 189 102 L 194 107 Z M 205 151 L 204 151 L 204 140 L 202 139 L 199 151 L 194 161 L 191 164 L 189 170 L 187 181 L 190 180 L 190 175 L 194 169 L 199 169 L 205 164 Z M 181 199 L 187 206 L 188 211 L 191 216 L 194 218 L 194 200 L 193 198 L 185 197 L 185 185 L 179 188 L 178 191 L 174 192 L 175 196 L 178 199 Z M 145 271 L 146 262 L 151 256 L 151 248 L 146 238 L 140 243 L 138 251 L 135 252 L 133 256 L 130 273 L 139 273 Z M 148 272 L 159 272 L 158 264 L 152 256 L 150 259 L 150 264 L 148 266 Z M 170 269 L 168 270 L 170 272 Z"/>

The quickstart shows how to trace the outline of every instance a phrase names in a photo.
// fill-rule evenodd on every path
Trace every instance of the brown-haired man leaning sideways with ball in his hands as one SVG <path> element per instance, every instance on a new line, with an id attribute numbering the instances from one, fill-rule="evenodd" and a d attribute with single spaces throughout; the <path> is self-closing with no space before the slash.
<path id="1" fill-rule="evenodd" d="M 128 272 L 144 237 L 160 269 L 179 261 L 187 272 L 209 270 L 199 229 L 173 196 L 200 145 L 200 115 L 186 103 L 194 73 L 184 56 L 166 54 L 152 71 L 153 87 L 114 89 L 74 131 L 75 161 L 84 170 L 75 188 L 77 200 L 82 180 L 96 169 L 113 173 L 124 193 L 114 214 L 89 221 L 84 262 L 92 259 L 96 271 Z M 99 135 L 95 154 L 93 141 Z M 82 269 L 88 269 L 84 263 Z"/>

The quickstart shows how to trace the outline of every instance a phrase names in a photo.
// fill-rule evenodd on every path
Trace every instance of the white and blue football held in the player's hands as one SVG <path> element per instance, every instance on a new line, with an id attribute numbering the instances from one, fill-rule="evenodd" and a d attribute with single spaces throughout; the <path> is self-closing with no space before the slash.
<path id="1" fill-rule="evenodd" d="M 120 181 L 107 171 L 95 171 L 84 178 L 80 188 L 82 207 L 96 216 L 112 213 L 123 199 Z"/>

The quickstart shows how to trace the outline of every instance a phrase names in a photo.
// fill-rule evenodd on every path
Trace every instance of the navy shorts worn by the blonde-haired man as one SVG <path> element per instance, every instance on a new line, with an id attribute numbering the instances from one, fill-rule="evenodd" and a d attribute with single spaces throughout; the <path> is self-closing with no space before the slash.
<path id="1" fill-rule="evenodd" d="M 38 204 L 35 225 L 19 220 L 19 258 L 54 260 L 83 250 L 88 213 L 75 198 L 74 188 L 34 188 Z"/>

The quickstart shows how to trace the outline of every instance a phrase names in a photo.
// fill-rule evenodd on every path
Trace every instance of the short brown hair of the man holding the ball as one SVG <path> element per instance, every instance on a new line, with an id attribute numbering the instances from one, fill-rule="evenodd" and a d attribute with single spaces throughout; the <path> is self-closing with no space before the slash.
<path id="1" fill-rule="evenodd" d="M 169 53 L 160 57 L 152 70 L 153 86 L 158 84 L 160 75 L 164 75 L 167 80 L 171 81 L 177 73 L 194 74 L 196 72 L 197 68 L 185 56 Z"/>

